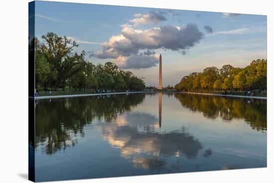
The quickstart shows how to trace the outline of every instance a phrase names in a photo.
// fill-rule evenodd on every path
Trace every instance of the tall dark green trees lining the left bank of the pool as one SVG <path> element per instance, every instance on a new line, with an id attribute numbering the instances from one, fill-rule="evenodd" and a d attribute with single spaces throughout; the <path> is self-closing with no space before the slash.
<path id="1" fill-rule="evenodd" d="M 75 52 L 79 45 L 66 36 L 48 32 L 34 37 L 29 51 L 35 52 L 35 87 L 56 91 L 58 88 L 85 91 L 143 90 L 145 83 L 132 72 L 119 69 L 113 62 L 94 65 L 85 59 L 85 51 Z M 33 46 L 34 45 L 34 46 Z"/>

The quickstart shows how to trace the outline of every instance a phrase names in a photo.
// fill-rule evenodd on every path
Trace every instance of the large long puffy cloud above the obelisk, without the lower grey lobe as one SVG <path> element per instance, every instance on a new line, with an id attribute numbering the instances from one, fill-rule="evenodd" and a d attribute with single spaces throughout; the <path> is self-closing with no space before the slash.
<path id="1" fill-rule="evenodd" d="M 182 51 L 193 47 L 202 38 L 203 33 L 196 24 L 181 27 L 166 25 L 146 30 L 125 27 L 122 29 L 122 34 L 112 36 L 108 42 L 102 44 L 104 48 L 97 57 L 130 56 L 142 49 L 163 48 Z"/>

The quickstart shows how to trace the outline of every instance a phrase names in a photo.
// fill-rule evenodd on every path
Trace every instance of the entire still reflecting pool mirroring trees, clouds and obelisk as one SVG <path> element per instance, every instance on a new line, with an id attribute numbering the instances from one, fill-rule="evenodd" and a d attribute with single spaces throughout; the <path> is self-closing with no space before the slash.
<path id="1" fill-rule="evenodd" d="M 35 179 L 267 166 L 267 100 L 180 93 L 43 99 Z"/>

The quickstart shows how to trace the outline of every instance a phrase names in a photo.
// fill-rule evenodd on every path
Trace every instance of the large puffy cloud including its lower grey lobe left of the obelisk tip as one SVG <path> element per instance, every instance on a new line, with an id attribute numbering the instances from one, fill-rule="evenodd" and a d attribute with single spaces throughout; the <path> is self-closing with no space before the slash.
<path id="1" fill-rule="evenodd" d="M 170 49 L 185 53 L 203 38 L 196 24 L 181 27 L 165 25 L 146 30 L 124 27 L 120 35 L 102 43 L 97 52 L 100 59 L 112 58 L 120 68 L 148 68 L 158 63 L 155 49 Z"/>

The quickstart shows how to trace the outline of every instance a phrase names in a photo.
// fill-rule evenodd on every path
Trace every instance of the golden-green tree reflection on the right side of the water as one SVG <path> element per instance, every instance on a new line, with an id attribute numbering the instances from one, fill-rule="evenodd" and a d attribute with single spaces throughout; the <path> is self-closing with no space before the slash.
<path id="1" fill-rule="evenodd" d="M 267 100 L 176 93 L 183 107 L 206 118 L 244 119 L 252 129 L 267 131 Z"/>

